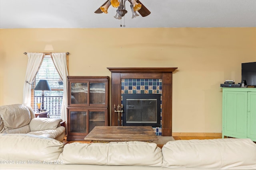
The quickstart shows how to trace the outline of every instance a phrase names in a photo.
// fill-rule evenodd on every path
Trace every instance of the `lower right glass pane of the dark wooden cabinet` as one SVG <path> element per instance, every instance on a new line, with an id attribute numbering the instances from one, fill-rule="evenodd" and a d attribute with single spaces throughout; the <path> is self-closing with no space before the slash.
<path id="1" fill-rule="evenodd" d="M 106 126 L 106 110 L 89 110 L 89 132 L 95 126 Z"/>

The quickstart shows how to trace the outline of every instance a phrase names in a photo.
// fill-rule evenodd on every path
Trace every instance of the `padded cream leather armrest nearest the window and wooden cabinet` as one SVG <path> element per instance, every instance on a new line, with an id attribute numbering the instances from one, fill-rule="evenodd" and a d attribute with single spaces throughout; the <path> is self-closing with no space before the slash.
<path id="1" fill-rule="evenodd" d="M 60 126 L 60 122 L 62 122 L 62 119 L 58 119 L 58 118 L 44 118 L 44 117 L 34 118 L 29 123 L 30 131 L 56 129 L 57 127 Z"/>

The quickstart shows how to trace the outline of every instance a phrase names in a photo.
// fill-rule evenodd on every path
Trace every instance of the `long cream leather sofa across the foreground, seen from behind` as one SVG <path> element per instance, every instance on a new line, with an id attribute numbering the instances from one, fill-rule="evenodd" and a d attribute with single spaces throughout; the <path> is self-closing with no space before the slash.
<path id="1" fill-rule="evenodd" d="M 250 139 L 155 143 L 63 143 L 29 134 L 0 134 L 0 169 L 13 170 L 255 170 Z"/>

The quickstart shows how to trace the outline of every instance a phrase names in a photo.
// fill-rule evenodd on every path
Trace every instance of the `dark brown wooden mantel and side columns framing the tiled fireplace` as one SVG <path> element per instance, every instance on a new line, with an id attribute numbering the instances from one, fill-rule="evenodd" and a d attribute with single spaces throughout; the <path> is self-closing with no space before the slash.
<path id="1" fill-rule="evenodd" d="M 172 72 L 177 68 L 117 68 L 111 67 L 111 125 L 118 126 L 114 105 L 121 104 L 121 79 L 162 79 L 162 136 L 172 136 Z"/>

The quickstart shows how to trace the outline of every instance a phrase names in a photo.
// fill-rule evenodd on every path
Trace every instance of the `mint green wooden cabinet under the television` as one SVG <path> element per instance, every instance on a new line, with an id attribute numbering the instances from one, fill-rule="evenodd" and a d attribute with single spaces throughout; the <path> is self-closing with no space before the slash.
<path id="1" fill-rule="evenodd" d="M 256 89 L 222 88 L 222 138 L 256 141 Z"/>

